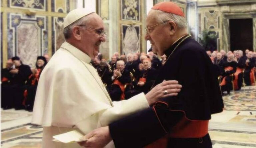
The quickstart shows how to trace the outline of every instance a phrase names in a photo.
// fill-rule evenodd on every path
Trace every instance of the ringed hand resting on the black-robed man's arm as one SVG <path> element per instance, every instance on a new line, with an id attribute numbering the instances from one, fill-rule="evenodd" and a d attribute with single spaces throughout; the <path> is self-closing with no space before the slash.
<path id="1" fill-rule="evenodd" d="M 181 87 L 182 86 L 179 85 L 178 81 L 176 80 L 164 80 L 162 83 L 156 85 L 146 94 L 146 99 L 149 106 L 153 105 L 161 98 L 177 96 L 178 92 L 180 92 Z"/>

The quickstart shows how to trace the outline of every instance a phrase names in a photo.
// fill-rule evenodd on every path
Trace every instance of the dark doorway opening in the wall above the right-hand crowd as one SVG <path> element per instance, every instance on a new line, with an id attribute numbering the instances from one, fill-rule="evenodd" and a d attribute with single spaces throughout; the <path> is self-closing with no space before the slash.
<path id="1" fill-rule="evenodd" d="M 253 50 L 252 19 L 229 19 L 230 50 Z"/>

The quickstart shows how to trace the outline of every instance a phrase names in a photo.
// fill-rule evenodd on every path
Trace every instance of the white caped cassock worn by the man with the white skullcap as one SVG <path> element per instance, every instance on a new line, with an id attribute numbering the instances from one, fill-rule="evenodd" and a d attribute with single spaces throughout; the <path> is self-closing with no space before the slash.
<path id="1" fill-rule="evenodd" d="M 80 147 L 53 142 L 52 136 L 75 129 L 86 134 L 149 107 L 143 93 L 112 103 L 90 60 L 64 42 L 42 71 L 32 123 L 43 126 L 43 148 Z"/>

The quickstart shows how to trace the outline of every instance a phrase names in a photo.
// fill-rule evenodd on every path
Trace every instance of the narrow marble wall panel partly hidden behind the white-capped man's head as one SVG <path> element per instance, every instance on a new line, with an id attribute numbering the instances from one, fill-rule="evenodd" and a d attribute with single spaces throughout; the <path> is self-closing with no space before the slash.
<path id="1" fill-rule="evenodd" d="M 65 41 L 63 35 L 64 18 L 52 17 L 52 54 L 55 53 Z"/>

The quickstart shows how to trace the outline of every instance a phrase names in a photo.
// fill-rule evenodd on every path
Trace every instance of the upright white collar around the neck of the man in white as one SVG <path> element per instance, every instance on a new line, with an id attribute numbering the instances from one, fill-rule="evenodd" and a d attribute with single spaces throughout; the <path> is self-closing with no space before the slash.
<path id="1" fill-rule="evenodd" d="M 71 45 L 68 42 L 64 42 L 61 45 L 62 48 L 68 50 L 69 52 L 71 52 L 75 57 L 77 57 L 79 60 L 82 60 L 84 62 L 86 62 L 87 64 L 90 63 L 91 58 L 85 54 L 84 52 L 82 52 L 81 50 L 79 50 L 78 48 L 74 47 L 73 45 Z"/>

